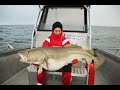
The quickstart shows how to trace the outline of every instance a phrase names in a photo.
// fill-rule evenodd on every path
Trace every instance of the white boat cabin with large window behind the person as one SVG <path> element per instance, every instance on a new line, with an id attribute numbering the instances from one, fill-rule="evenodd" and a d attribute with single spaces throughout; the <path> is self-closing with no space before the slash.
<path id="1" fill-rule="evenodd" d="M 41 46 L 43 41 L 51 35 L 52 24 L 60 21 L 63 25 L 63 35 L 71 44 L 81 46 L 83 49 L 91 48 L 89 9 L 90 5 L 45 5 L 41 7 L 35 26 L 37 31 L 35 47 Z"/>

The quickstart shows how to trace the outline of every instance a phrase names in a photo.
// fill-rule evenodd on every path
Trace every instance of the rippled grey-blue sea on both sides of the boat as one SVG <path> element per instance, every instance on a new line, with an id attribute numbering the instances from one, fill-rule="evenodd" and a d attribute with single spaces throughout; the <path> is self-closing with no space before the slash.
<path id="1" fill-rule="evenodd" d="M 115 54 L 120 49 L 120 27 L 92 26 L 92 47 Z M 30 46 L 33 25 L 0 25 L 0 53 L 10 50 L 7 43 L 19 49 Z M 112 50 L 111 50 L 112 49 Z M 120 56 L 120 50 L 116 53 Z"/>

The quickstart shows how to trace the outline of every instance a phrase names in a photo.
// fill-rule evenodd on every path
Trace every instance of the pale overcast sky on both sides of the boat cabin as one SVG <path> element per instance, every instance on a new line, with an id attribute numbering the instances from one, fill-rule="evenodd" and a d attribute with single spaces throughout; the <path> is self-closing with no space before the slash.
<path id="1" fill-rule="evenodd" d="M 38 5 L 0 5 L 0 25 L 35 24 Z M 91 25 L 120 26 L 120 5 L 92 5 Z"/>

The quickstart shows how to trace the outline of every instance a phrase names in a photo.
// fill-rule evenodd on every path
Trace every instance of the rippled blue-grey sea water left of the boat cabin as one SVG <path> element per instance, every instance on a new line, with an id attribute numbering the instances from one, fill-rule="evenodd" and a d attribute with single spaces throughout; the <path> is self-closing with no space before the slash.
<path id="1" fill-rule="evenodd" d="M 14 48 L 30 46 L 33 25 L 0 25 L 0 53 L 9 50 L 7 43 Z"/>

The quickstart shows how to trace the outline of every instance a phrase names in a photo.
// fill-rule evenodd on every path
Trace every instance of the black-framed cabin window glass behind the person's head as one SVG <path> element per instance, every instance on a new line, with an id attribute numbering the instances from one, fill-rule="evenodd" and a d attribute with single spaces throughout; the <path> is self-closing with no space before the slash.
<path id="1" fill-rule="evenodd" d="M 50 7 L 39 30 L 51 30 L 52 24 L 55 21 L 60 21 L 65 31 L 85 31 L 84 19 L 84 9 Z"/>

